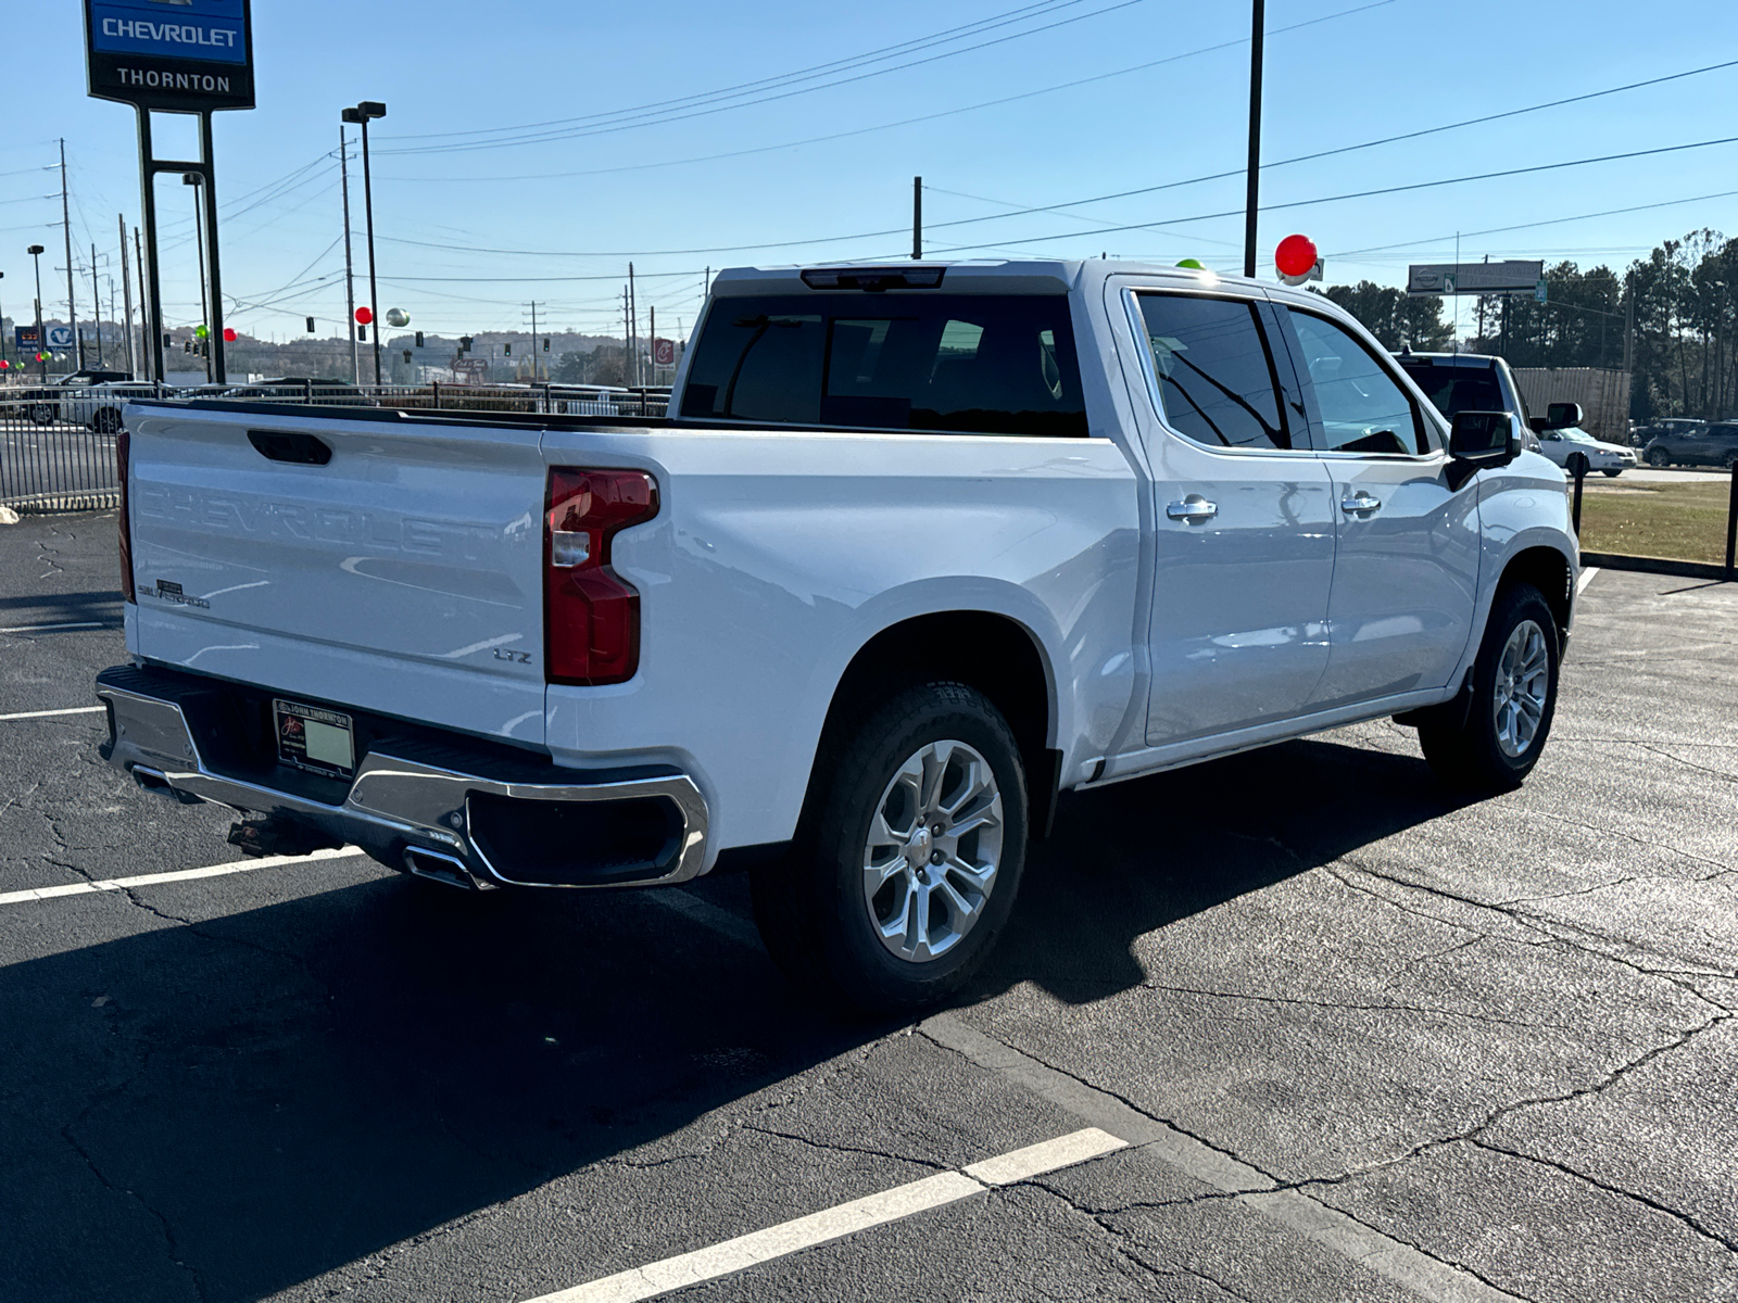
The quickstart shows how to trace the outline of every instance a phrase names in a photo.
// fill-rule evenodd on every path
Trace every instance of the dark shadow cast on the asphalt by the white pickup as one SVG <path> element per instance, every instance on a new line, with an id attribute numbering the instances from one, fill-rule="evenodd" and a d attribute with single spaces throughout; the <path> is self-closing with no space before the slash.
<path id="1" fill-rule="evenodd" d="M 1135 985 L 1140 936 L 1448 808 L 1418 761 L 1326 742 L 1085 794 L 977 994 Z M 257 881 L 249 898 L 271 890 Z M 474 909 L 436 891 L 389 879 L 143 919 L 0 968 L 0 1279 L 35 1303 L 255 1300 L 886 1030 L 827 1020 L 760 949 L 641 896 Z M 76 929 L 75 910 L 115 903 L 40 917 Z M 634 1214 L 570 1216 L 582 1239 Z"/>

